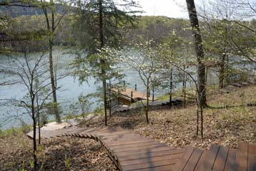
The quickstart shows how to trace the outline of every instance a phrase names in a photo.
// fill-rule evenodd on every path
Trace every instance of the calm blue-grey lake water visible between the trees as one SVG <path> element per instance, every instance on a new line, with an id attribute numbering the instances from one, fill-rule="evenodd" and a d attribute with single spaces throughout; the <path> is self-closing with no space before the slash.
<path id="1" fill-rule="evenodd" d="M 7 63 L 6 58 L 3 56 L 0 56 L 0 62 L 1 63 Z M 17 57 L 17 56 L 16 56 Z M 21 57 L 18 57 L 21 58 Z M 21 58 L 22 60 L 22 58 Z M 70 63 L 74 60 L 74 55 L 70 54 L 63 54 L 63 51 L 54 51 L 54 60 L 55 63 L 58 63 L 58 66 L 61 68 L 58 70 L 59 73 L 61 72 L 67 72 L 70 71 Z M 56 62 L 57 61 L 57 62 Z M 191 70 L 195 70 L 195 68 L 191 68 Z M 131 88 L 134 88 L 134 84 L 137 84 L 137 90 L 145 92 L 145 88 L 143 86 L 142 80 L 139 78 L 139 75 L 137 72 L 133 71 L 129 68 L 123 68 L 123 73 L 126 74 L 124 77 L 124 81 L 126 81 L 127 85 Z M 211 77 L 215 77 L 215 72 L 210 72 Z M 1 80 L 8 80 L 9 78 L 6 78 L 4 76 L 0 76 Z M 217 80 L 211 80 L 212 83 L 216 83 Z M 189 86 L 189 83 L 187 84 Z M 65 78 L 62 78 L 58 81 L 57 86 L 60 87 L 59 90 L 57 90 L 57 99 L 58 103 L 61 104 L 61 110 L 63 113 L 70 113 L 71 110 L 69 109 L 69 106 L 77 103 L 77 98 L 79 95 L 87 95 L 89 93 L 95 93 L 97 91 L 97 88 L 101 86 L 101 83 L 97 83 L 95 78 L 88 78 L 87 83 L 80 83 L 78 77 L 74 76 L 67 76 Z M 181 88 L 182 84 L 176 83 L 176 88 Z M 168 89 L 162 89 L 159 88 L 156 90 L 156 96 L 157 95 L 164 95 L 168 93 Z M 13 86 L 0 86 L 0 99 L 10 99 L 10 98 L 16 98 L 16 99 L 22 99 L 27 94 L 27 90 L 22 85 L 13 85 Z M 92 102 L 96 102 L 97 98 L 92 98 Z M 94 103 L 91 106 L 91 110 L 94 110 L 99 106 L 99 103 Z M 21 108 L 14 108 L 14 106 L 6 106 L 6 105 L 0 105 L 0 124 L 1 129 L 8 129 L 11 127 L 19 127 L 21 125 L 21 120 L 23 120 L 27 124 L 31 124 L 32 120 L 29 115 L 21 115 L 24 110 Z M 6 122 L 6 118 L 10 118 L 11 116 L 19 116 L 18 118 L 15 118 L 14 120 L 8 120 Z M 53 116 L 50 116 L 49 119 L 53 119 Z"/>

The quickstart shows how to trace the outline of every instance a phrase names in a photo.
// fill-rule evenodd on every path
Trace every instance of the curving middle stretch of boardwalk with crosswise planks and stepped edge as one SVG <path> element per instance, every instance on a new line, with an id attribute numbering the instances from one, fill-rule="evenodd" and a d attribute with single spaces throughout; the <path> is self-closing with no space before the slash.
<path id="1" fill-rule="evenodd" d="M 98 140 L 114 164 L 122 171 L 172 170 L 183 153 L 183 150 L 122 128 L 94 128 L 63 135 Z"/>

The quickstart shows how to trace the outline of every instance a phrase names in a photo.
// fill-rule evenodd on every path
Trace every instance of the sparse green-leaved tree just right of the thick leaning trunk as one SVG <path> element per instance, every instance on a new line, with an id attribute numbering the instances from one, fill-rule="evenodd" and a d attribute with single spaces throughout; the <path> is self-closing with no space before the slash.
<path id="1" fill-rule="evenodd" d="M 229 83 L 230 61 L 234 48 L 232 37 L 235 36 L 235 25 L 230 22 L 235 18 L 237 6 L 228 1 L 207 1 L 200 10 L 200 16 L 205 21 L 202 35 L 205 40 L 205 52 L 210 62 L 207 68 L 217 67 L 219 72 L 219 88 Z M 209 56 L 211 58 L 209 58 Z"/>

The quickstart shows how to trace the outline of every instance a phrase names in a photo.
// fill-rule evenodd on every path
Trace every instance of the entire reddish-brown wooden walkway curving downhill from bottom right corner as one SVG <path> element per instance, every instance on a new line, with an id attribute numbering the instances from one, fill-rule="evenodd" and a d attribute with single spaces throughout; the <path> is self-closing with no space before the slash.
<path id="1" fill-rule="evenodd" d="M 70 136 L 99 141 L 122 171 L 255 171 L 256 145 L 240 142 L 237 149 L 212 145 L 210 150 L 183 150 L 144 138 L 122 128 L 66 128 L 44 138 Z"/>

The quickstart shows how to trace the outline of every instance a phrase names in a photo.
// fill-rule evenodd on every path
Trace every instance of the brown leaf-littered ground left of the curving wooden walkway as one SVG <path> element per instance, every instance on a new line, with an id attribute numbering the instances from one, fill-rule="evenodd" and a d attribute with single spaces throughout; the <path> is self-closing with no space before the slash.
<path id="1" fill-rule="evenodd" d="M 6 136 L 0 140 L 0 170 L 31 170 L 32 141 L 25 135 Z M 42 170 L 117 170 L 101 145 L 81 138 L 43 140 L 38 152 Z"/>

